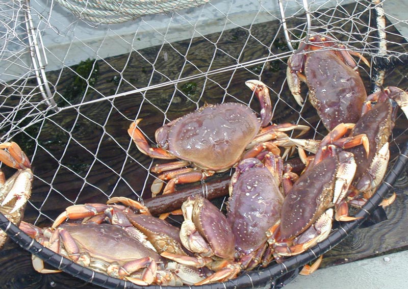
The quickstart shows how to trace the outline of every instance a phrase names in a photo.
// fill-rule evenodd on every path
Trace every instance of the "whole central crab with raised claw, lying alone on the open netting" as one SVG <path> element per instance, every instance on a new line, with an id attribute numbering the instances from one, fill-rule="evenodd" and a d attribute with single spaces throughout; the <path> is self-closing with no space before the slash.
<path id="1" fill-rule="evenodd" d="M 181 159 L 151 169 L 161 173 L 159 179 L 169 180 L 163 193 L 174 191 L 176 183 L 199 181 L 216 172 L 226 171 L 265 147 L 276 149 L 267 142 L 287 130 L 300 129 L 302 133 L 309 130 L 308 126 L 289 123 L 267 126 L 272 118 L 268 88 L 260 81 L 252 80 L 245 84 L 260 100 L 260 119 L 240 103 L 207 105 L 160 127 L 155 134 L 159 147 L 150 147 L 136 127 L 141 119 L 131 124 L 128 133 L 142 153 L 158 159 Z M 160 180 L 153 183 L 153 195 L 161 191 L 161 184 Z"/>

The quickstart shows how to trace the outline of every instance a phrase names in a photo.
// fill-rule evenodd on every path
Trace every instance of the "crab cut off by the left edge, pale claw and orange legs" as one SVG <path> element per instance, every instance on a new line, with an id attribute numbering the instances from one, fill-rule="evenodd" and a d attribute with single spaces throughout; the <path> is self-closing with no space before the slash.
<path id="1" fill-rule="evenodd" d="M 25 203 L 31 195 L 33 183 L 31 164 L 15 142 L 0 144 L 0 161 L 17 169 L 17 172 L 7 180 L 0 170 L 0 212 L 18 226 L 24 215 Z M 6 240 L 7 234 L 1 231 L 0 248 L 3 247 Z"/>

